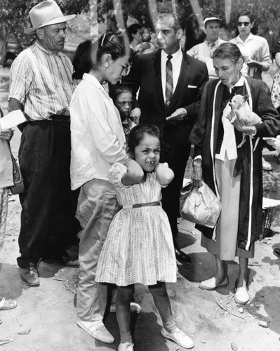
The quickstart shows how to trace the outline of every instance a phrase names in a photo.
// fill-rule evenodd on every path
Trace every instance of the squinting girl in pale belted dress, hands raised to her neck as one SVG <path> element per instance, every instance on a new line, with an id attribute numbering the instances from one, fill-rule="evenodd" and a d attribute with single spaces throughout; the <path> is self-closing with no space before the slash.
<path id="1" fill-rule="evenodd" d="M 165 282 L 176 282 L 171 227 L 161 208 L 161 187 L 171 183 L 173 171 L 160 164 L 159 128 L 135 126 L 128 137 L 128 155 L 137 164 L 116 163 L 108 171 L 122 206 L 109 227 L 98 261 L 97 282 L 116 284 L 116 317 L 121 333 L 119 351 L 133 351 L 130 302 L 134 284 L 149 286 L 163 322 L 161 334 L 185 348 L 192 340 L 175 325 Z"/>

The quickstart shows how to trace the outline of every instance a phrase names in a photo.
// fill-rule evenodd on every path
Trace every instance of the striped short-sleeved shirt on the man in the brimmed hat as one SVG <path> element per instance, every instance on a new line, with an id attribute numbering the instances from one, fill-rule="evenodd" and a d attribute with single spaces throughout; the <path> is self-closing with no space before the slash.
<path id="1" fill-rule="evenodd" d="M 36 41 L 15 58 L 10 72 L 8 99 L 20 101 L 31 120 L 69 115 L 75 86 L 72 63 L 64 53 L 53 53 Z"/>

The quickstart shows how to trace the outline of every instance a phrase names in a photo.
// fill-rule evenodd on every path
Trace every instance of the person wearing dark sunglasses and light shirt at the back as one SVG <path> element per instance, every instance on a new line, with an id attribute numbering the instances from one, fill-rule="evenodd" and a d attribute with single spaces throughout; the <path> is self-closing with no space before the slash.
<path id="1" fill-rule="evenodd" d="M 271 63 L 269 46 L 265 38 L 254 35 L 255 22 L 250 11 L 243 11 L 237 16 L 239 36 L 231 42 L 239 47 L 244 56 L 244 67 L 241 72 L 255 79 L 262 79 L 262 72 L 268 71 Z"/>

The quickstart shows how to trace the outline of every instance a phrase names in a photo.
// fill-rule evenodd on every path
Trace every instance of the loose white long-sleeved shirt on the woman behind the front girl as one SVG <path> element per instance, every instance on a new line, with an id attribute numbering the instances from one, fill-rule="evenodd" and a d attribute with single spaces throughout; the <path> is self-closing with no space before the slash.
<path id="1" fill-rule="evenodd" d="M 84 74 L 70 102 L 71 188 L 93 178 L 108 180 L 115 162 L 128 159 L 119 111 L 105 88 L 91 74 Z"/>

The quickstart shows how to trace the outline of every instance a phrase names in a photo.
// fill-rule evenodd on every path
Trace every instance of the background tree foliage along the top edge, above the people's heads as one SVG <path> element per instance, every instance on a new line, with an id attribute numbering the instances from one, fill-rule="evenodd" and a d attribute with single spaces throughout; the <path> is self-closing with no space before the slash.
<path id="1" fill-rule="evenodd" d="M 57 0 L 62 12 L 65 14 L 89 11 L 89 1 L 92 0 Z M 226 1 L 227 4 L 231 2 L 230 16 L 229 14 L 226 16 L 225 13 Z M 1 0 L 0 23 L 2 32 L 4 32 L 4 36 L 6 34 L 6 37 L 12 33 L 22 48 L 29 46 L 34 40 L 34 37 L 25 35 L 23 30 L 29 25 L 29 10 L 34 5 L 39 4 L 39 2 L 41 0 Z M 269 41 L 271 48 L 276 40 L 279 39 L 279 0 L 98 0 L 95 11 L 97 12 L 96 17 L 98 21 L 102 22 L 107 13 L 118 11 L 118 8 L 121 8 L 123 14 L 126 13 L 126 15 L 138 20 L 138 22 L 153 28 L 152 13 L 156 11 L 154 7 L 172 7 L 176 3 L 179 6 L 179 11 L 185 15 L 188 27 L 187 35 L 190 37 L 188 40 L 192 44 L 192 35 L 195 37 L 194 34 L 196 34 L 197 37 L 201 33 L 201 27 L 199 27 L 192 10 L 194 2 L 199 4 L 204 18 L 209 15 L 219 15 L 223 20 L 222 24 L 232 34 L 234 34 L 234 29 L 236 29 L 237 13 L 241 9 L 249 9 L 253 11 L 258 19 L 259 34 Z M 226 21 L 226 18 L 229 18 L 229 22 Z"/>

